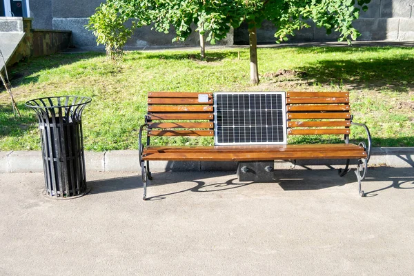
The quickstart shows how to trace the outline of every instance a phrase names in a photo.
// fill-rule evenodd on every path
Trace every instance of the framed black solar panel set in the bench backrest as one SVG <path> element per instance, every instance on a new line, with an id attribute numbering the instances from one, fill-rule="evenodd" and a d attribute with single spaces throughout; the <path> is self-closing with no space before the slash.
<path id="1" fill-rule="evenodd" d="M 285 92 L 216 92 L 215 145 L 286 144 Z"/>

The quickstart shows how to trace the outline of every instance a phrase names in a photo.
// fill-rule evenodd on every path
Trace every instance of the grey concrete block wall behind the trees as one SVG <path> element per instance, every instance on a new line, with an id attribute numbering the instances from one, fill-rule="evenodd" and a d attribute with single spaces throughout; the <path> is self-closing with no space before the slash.
<path id="1" fill-rule="evenodd" d="M 30 0 L 30 13 L 33 17 L 33 28 L 71 30 L 72 42 L 80 48 L 97 48 L 95 37 L 84 26 L 88 17 L 103 0 Z M 360 18 L 354 26 L 362 33 L 360 41 L 388 40 L 414 41 L 414 0 L 372 0 L 368 4 L 368 11 L 361 12 Z M 297 32 L 292 42 L 306 41 L 335 41 L 338 34 L 326 34 L 324 28 L 311 28 Z M 275 28 L 272 23 L 264 22 L 257 32 L 259 43 L 275 43 Z M 140 28 L 128 41 L 129 48 L 145 48 L 147 46 L 197 46 L 198 34 L 184 43 L 172 43 L 174 33 L 161 34 L 150 27 Z M 248 43 L 247 26 L 228 34 L 228 39 L 221 41 L 221 45 Z M 101 46 L 102 48 L 102 46 Z"/>

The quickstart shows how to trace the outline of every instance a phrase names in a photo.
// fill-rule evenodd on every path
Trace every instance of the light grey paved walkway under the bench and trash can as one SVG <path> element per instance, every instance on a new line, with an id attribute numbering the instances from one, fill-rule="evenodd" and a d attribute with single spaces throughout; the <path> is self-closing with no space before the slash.
<path id="1" fill-rule="evenodd" d="M 91 193 L 41 195 L 42 173 L 0 174 L 0 275 L 410 275 L 414 169 L 355 175 L 88 174 Z"/>

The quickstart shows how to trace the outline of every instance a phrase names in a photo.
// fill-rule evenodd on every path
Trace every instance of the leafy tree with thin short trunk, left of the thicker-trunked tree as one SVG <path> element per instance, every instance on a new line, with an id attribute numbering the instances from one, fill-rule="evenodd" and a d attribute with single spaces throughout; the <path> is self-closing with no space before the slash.
<path id="1" fill-rule="evenodd" d="M 199 32 L 201 57 L 204 57 L 204 41 L 215 44 L 226 37 L 231 27 L 237 28 L 242 23 L 244 12 L 237 12 L 235 1 L 223 5 L 221 1 L 206 0 L 108 0 L 119 7 L 122 16 L 136 19 L 138 25 L 153 24 L 158 32 L 168 33 L 170 27 L 175 29 L 173 41 L 184 41 L 193 32 L 191 24 Z M 236 12 L 235 12 L 236 11 Z M 231 14 L 232 17 L 223 14 Z M 233 17 L 238 17 L 237 21 Z M 208 36 L 206 37 L 206 33 Z"/>

